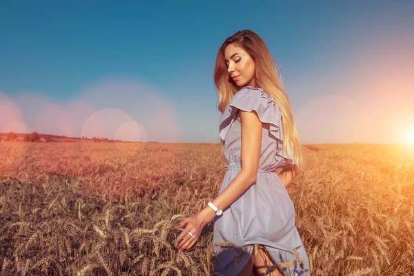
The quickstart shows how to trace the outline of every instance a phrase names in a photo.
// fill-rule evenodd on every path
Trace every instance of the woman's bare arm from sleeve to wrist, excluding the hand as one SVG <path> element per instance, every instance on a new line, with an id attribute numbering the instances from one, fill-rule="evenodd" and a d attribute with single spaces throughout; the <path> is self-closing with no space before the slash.
<path id="1" fill-rule="evenodd" d="M 211 201 L 217 208 L 224 210 L 240 197 L 256 181 L 259 168 L 260 148 L 262 146 L 262 122 L 259 121 L 255 110 L 239 111 L 242 124 L 242 170 L 235 179 Z M 205 223 L 215 217 L 215 211 L 206 206 L 199 212 Z"/>

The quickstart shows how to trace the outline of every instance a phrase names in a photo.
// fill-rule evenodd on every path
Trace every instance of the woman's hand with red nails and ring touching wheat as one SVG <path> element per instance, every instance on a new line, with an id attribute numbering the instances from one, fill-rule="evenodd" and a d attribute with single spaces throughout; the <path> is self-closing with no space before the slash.
<path id="1" fill-rule="evenodd" d="M 201 231 L 203 230 L 204 226 L 206 226 L 206 221 L 204 217 L 198 213 L 197 215 L 186 217 L 185 219 L 181 220 L 179 224 L 177 224 L 178 227 L 183 227 L 184 225 L 187 225 L 186 228 L 184 228 L 184 230 L 176 239 L 176 241 L 182 239 L 182 241 L 177 246 L 177 248 L 181 251 L 190 249 L 195 244 L 195 242 L 198 241 Z M 193 237 L 188 234 L 189 232 L 193 234 Z"/>

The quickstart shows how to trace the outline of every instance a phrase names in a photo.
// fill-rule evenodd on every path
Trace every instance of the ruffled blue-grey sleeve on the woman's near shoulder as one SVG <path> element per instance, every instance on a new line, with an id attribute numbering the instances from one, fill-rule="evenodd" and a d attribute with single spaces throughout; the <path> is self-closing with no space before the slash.
<path id="1" fill-rule="evenodd" d="M 224 141 L 226 139 L 228 130 L 233 121 L 237 120 L 237 110 L 244 110 L 251 112 L 255 110 L 262 123 L 269 124 L 269 136 L 277 141 L 276 155 L 284 157 L 285 163 L 294 164 L 284 152 L 283 146 L 283 130 L 282 130 L 282 113 L 279 110 L 279 105 L 261 88 L 253 88 L 246 86 L 239 90 L 228 103 L 226 110 L 221 115 L 219 124 L 219 135 Z"/>

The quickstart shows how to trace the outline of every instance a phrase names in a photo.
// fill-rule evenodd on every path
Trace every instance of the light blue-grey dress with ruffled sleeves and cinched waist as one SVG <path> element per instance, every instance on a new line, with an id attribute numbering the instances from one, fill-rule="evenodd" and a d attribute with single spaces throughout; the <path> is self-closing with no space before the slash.
<path id="1" fill-rule="evenodd" d="M 288 275 L 309 275 L 306 250 L 295 226 L 295 209 L 286 188 L 276 172 L 292 159 L 282 152 L 282 113 L 276 101 L 264 90 L 246 86 L 239 90 L 226 107 L 219 124 L 228 166 L 221 193 L 241 168 L 241 123 L 237 111 L 256 110 L 262 121 L 262 147 L 255 184 L 214 219 L 213 268 L 222 275 L 238 275 L 247 264 L 254 244 L 262 245 L 273 262 L 293 262 L 282 268 Z M 234 246 L 217 246 L 230 242 Z M 299 266 L 293 253 L 302 259 Z"/>

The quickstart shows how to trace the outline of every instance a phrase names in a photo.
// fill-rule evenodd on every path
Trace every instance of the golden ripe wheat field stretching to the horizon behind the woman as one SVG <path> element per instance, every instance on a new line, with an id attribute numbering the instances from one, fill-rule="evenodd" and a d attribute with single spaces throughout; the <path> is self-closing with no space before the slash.
<path id="1" fill-rule="evenodd" d="M 414 275 L 413 148 L 303 152 L 287 190 L 311 275 Z M 0 274 L 213 274 L 213 224 L 188 252 L 176 225 L 224 165 L 218 144 L 1 143 Z"/>

